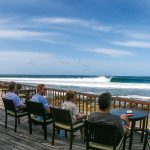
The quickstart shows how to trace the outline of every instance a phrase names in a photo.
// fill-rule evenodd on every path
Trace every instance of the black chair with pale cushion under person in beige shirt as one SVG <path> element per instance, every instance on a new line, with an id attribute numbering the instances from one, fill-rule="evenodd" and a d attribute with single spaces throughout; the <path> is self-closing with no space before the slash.
<path id="1" fill-rule="evenodd" d="M 67 137 L 67 131 L 70 132 L 70 147 L 72 149 L 73 143 L 73 133 L 77 130 L 83 128 L 84 122 L 73 123 L 72 116 L 70 110 L 60 109 L 60 108 L 51 108 L 53 114 L 53 137 L 52 137 L 52 145 L 54 145 L 55 138 L 55 129 L 63 129 L 65 130 L 65 137 Z"/>

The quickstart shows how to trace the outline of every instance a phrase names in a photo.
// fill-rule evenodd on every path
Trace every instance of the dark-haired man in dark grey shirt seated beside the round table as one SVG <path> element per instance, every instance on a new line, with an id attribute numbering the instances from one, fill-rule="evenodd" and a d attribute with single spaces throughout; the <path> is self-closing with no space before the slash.
<path id="1" fill-rule="evenodd" d="M 91 122 L 104 122 L 114 123 L 118 127 L 118 133 L 122 137 L 123 135 L 129 135 L 129 120 L 126 114 L 122 114 L 120 117 L 111 114 L 112 96 L 109 92 L 103 93 L 99 96 L 99 112 L 93 112 L 90 114 L 88 120 Z"/>

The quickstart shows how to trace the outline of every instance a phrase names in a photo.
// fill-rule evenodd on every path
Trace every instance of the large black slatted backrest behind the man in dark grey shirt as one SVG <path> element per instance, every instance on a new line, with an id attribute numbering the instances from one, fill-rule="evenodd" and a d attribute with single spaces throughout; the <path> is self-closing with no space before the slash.
<path id="1" fill-rule="evenodd" d="M 95 123 L 86 121 L 86 137 L 88 142 L 109 146 L 117 146 L 121 140 L 116 125 L 112 123 Z"/>

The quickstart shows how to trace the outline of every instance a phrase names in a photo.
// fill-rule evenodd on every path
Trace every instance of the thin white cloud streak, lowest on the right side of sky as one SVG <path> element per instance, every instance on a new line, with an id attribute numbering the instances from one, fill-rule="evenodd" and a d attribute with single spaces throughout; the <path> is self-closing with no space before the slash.
<path id="1" fill-rule="evenodd" d="M 92 52 L 99 53 L 99 54 L 104 54 L 108 56 L 133 56 L 134 54 L 125 51 L 125 50 L 116 50 L 116 49 L 107 49 L 107 48 L 95 48 L 91 50 Z"/>

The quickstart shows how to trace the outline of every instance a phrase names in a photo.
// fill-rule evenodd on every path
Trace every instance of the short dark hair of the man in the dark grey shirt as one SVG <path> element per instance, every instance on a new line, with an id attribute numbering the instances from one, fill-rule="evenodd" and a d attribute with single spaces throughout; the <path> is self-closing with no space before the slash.
<path id="1" fill-rule="evenodd" d="M 109 92 L 103 93 L 99 96 L 99 109 L 105 110 L 111 105 L 112 96 Z"/>

